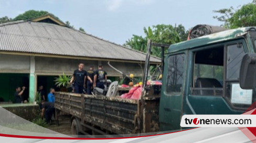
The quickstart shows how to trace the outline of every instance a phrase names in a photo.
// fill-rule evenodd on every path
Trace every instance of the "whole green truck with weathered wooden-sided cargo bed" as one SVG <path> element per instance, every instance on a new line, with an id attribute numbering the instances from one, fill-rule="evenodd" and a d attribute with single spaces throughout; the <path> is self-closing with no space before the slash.
<path id="1" fill-rule="evenodd" d="M 255 40 L 247 27 L 170 45 L 159 95 L 147 86 L 140 100 L 58 92 L 56 117 L 71 114 L 72 133 L 131 134 L 183 129 L 185 114 L 242 114 L 255 101 Z"/>

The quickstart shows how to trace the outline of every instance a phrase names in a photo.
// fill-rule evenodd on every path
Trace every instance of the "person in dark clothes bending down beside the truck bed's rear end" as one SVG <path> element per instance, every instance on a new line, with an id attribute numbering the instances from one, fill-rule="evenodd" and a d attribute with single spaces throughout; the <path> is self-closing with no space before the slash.
<path id="1" fill-rule="evenodd" d="M 44 100 L 41 101 L 42 104 L 42 112 L 41 112 L 41 117 L 45 117 L 46 123 L 50 123 L 51 121 L 51 116 L 54 114 L 54 103 L 52 102 L 46 102 Z"/>

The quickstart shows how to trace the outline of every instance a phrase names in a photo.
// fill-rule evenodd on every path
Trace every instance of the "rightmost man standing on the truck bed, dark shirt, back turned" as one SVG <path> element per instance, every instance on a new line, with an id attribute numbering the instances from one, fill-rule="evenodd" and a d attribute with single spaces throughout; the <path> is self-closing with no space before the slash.
<path id="1" fill-rule="evenodd" d="M 98 70 L 94 73 L 93 87 L 104 89 L 104 81 L 106 80 L 106 71 L 103 70 L 103 66 L 99 65 Z"/>

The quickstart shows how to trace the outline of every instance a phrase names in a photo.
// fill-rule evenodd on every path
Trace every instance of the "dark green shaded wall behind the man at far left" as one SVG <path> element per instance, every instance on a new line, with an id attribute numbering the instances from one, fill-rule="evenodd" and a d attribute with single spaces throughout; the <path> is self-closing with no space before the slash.
<path id="1" fill-rule="evenodd" d="M 0 74 L 0 98 L 5 102 L 14 101 L 14 93 L 16 86 L 25 86 L 26 90 L 23 93 L 24 99 L 28 98 L 29 94 L 29 74 Z"/>

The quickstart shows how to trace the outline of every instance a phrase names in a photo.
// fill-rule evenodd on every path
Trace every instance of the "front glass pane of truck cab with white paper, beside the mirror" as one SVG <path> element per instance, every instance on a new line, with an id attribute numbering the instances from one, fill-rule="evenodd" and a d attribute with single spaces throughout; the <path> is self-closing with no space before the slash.
<path id="1" fill-rule="evenodd" d="M 226 97 L 236 108 L 248 108 L 255 101 L 255 90 L 244 90 L 239 85 L 239 73 L 244 55 L 242 44 L 227 46 Z"/>

